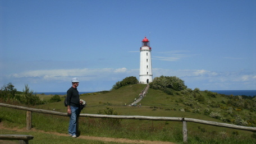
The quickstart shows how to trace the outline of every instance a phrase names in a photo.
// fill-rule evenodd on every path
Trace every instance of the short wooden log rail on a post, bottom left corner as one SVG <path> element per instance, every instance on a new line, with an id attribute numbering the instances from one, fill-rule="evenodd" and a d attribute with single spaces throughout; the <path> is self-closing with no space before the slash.
<path id="1" fill-rule="evenodd" d="M 21 134 L 0 134 L 0 140 L 20 140 L 20 144 L 28 144 L 34 136 Z"/>

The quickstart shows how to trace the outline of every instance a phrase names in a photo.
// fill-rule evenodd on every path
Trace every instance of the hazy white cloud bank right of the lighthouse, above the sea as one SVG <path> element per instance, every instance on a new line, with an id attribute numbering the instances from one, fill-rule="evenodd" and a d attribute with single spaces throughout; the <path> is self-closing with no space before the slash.
<path id="1" fill-rule="evenodd" d="M 185 81 L 185 85 L 202 90 L 255 90 L 256 72 L 214 72 L 205 69 L 161 69 L 154 68 L 153 77 L 177 76 Z M 250 73 L 250 75 L 246 75 Z"/>

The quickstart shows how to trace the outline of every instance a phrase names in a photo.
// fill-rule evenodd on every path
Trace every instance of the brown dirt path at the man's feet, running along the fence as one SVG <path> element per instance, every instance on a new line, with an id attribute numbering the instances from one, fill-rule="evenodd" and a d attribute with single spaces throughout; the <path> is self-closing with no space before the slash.
<path id="1" fill-rule="evenodd" d="M 6 128 L 3 127 L 3 124 L 0 123 L 0 129 L 6 129 L 10 131 L 17 131 L 17 132 L 28 132 L 26 128 L 18 129 L 18 128 Z M 57 132 L 44 132 L 41 130 L 36 130 L 32 128 L 30 131 L 33 132 L 40 132 L 40 133 L 47 133 L 47 134 L 55 134 L 57 136 L 66 136 L 68 137 L 68 134 L 63 133 L 57 133 Z M 162 141 L 147 141 L 147 140 L 129 140 L 126 138 L 109 138 L 109 137 L 93 137 L 93 136 L 79 136 L 77 138 L 85 139 L 85 140 L 97 140 L 97 141 L 106 141 L 106 142 L 118 142 L 118 143 L 147 143 L 147 144 L 175 144 L 172 142 L 162 142 Z M 0 140 L 1 143 L 1 140 Z"/>

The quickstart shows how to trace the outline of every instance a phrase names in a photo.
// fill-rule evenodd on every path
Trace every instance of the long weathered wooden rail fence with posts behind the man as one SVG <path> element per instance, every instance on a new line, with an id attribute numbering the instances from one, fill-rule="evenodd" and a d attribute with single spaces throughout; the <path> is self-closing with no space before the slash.
<path id="1" fill-rule="evenodd" d="M 27 110 L 27 115 L 26 115 L 26 123 L 27 123 L 26 129 L 27 130 L 30 130 L 31 126 L 32 126 L 32 112 L 45 113 L 45 114 L 53 114 L 53 115 L 61 115 L 61 116 L 68 117 L 67 113 L 54 112 L 52 110 L 27 108 L 27 107 L 24 107 L 24 106 L 16 106 L 16 105 L 9 105 L 9 104 L 3 104 L 3 103 L 0 103 L 0 106 L 4 106 L 4 107 L 7 107 L 7 108 L 13 108 L 13 109 Z M 79 117 L 113 118 L 113 119 L 141 119 L 141 120 L 164 120 L 164 121 L 182 122 L 182 124 L 183 124 L 182 133 L 183 133 L 183 141 L 184 142 L 188 142 L 187 122 L 207 124 L 207 125 L 217 126 L 217 127 L 227 127 L 227 128 L 234 128 L 234 129 L 241 129 L 241 130 L 245 130 L 245 131 L 256 132 L 256 127 L 236 126 L 234 124 L 218 123 L 218 122 L 212 122 L 212 121 L 200 120 L 200 119 L 193 119 L 193 118 L 147 117 L 147 116 L 139 116 L 139 115 L 101 115 L 101 114 L 80 114 Z"/>

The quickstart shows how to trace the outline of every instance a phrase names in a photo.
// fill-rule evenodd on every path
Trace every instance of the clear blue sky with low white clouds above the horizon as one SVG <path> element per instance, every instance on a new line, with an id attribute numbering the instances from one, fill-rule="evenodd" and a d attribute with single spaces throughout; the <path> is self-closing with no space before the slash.
<path id="1" fill-rule="evenodd" d="M 256 90 L 256 1 L 0 1 L 0 86 L 110 90 L 139 80 L 144 36 L 153 78 L 190 89 Z"/>

